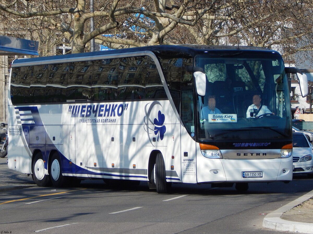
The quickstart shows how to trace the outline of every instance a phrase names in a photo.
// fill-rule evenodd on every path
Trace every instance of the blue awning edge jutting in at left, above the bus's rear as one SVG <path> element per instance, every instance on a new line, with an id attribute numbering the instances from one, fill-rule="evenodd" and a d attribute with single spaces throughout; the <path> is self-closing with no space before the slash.
<path id="1" fill-rule="evenodd" d="M 38 55 L 38 41 L 0 36 L 0 55 Z"/>

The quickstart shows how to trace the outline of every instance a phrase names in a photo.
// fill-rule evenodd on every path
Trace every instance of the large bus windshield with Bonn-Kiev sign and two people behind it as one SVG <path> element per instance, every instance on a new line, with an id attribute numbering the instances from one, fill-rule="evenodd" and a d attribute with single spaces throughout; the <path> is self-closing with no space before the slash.
<path id="1" fill-rule="evenodd" d="M 198 55 L 207 77 L 198 96 L 200 140 L 291 138 L 291 111 L 283 60 L 276 55 Z"/>

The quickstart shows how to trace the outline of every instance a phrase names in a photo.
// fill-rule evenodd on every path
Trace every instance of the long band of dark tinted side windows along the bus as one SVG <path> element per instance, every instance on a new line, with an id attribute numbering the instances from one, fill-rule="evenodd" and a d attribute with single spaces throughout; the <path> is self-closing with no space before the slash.
<path id="1" fill-rule="evenodd" d="M 149 56 L 18 67 L 12 74 L 13 104 L 167 99 Z M 171 87 L 179 97 L 174 83 Z"/>

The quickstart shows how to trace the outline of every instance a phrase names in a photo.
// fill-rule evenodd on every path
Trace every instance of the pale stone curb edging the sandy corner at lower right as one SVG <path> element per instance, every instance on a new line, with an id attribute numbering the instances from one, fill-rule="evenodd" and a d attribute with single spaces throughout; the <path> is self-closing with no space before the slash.
<path id="1" fill-rule="evenodd" d="M 268 227 L 281 231 L 313 234 L 313 223 L 293 222 L 280 218 L 280 216 L 284 212 L 292 209 L 293 207 L 310 199 L 311 197 L 313 197 L 313 190 L 303 195 L 302 197 L 299 197 L 296 200 L 289 202 L 287 205 L 269 213 L 263 219 L 263 227 Z"/>

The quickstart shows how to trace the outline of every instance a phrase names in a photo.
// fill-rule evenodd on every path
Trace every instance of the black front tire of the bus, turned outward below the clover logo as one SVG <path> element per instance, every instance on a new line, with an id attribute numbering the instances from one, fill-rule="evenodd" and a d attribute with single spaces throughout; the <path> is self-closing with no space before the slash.
<path id="1" fill-rule="evenodd" d="M 157 193 L 168 193 L 170 188 L 170 183 L 166 182 L 166 172 L 165 172 L 165 163 L 161 153 L 156 155 L 156 164 L 155 164 L 155 173 L 154 180 L 156 184 Z"/>

